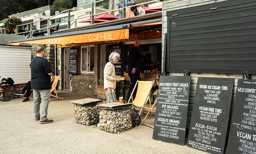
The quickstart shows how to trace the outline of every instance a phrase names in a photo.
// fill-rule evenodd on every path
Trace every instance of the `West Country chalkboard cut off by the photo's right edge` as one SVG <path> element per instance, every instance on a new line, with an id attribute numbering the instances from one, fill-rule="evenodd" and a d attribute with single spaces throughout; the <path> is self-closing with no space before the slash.
<path id="1" fill-rule="evenodd" d="M 256 80 L 239 79 L 227 154 L 256 154 Z"/>

